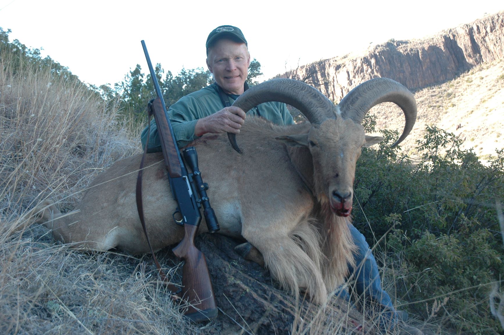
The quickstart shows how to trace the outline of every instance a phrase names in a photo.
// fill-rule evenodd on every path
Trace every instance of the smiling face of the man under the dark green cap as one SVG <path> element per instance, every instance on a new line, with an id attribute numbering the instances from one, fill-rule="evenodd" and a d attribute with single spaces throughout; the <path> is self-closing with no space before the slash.
<path id="1" fill-rule="evenodd" d="M 245 43 L 221 39 L 209 49 L 208 70 L 226 93 L 243 93 L 243 84 L 248 75 L 248 65 L 250 65 L 250 54 Z"/>

